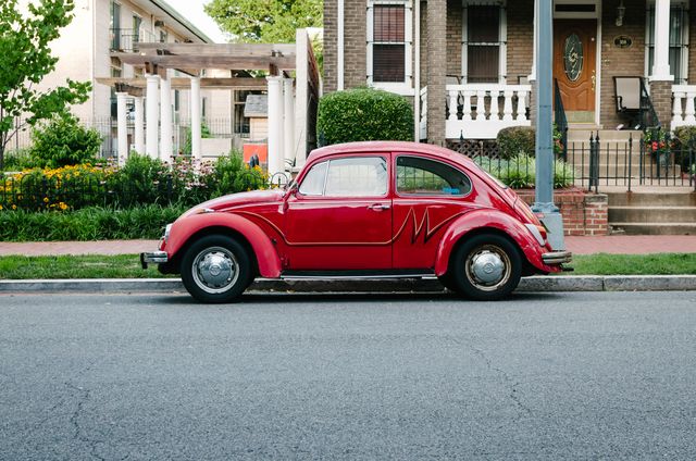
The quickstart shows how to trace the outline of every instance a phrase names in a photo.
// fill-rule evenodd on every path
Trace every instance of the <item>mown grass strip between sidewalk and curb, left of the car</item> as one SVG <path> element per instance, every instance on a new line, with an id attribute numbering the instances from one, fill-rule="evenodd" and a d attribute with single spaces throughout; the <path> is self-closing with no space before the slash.
<path id="1" fill-rule="evenodd" d="M 156 265 L 140 267 L 138 254 L 0 257 L 0 279 L 164 277 Z"/>

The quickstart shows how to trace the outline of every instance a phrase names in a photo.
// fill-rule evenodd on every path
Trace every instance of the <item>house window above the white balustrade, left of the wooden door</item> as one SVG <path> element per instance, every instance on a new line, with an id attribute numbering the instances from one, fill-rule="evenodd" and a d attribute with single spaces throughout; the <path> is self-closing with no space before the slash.
<path id="1" fill-rule="evenodd" d="M 470 84 L 505 83 L 506 16 L 499 1 L 464 3 L 462 77 Z"/>

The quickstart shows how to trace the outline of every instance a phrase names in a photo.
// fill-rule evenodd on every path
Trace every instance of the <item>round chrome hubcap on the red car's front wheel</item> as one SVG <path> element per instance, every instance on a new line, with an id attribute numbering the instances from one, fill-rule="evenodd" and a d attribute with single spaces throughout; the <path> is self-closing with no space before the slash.
<path id="1" fill-rule="evenodd" d="M 194 260 L 194 281 L 202 290 L 219 294 L 228 290 L 239 277 L 239 264 L 226 248 L 206 248 Z"/>

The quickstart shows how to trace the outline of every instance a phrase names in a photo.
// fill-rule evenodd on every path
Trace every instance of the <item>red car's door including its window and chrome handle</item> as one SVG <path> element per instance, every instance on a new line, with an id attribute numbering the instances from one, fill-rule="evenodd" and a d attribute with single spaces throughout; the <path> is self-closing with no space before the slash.
<path id="1" fill-rule="evenodd" d="M 391 267 L 389 157 L 332 157 L 311 166 L 287 201 L 289 270 Z"/>

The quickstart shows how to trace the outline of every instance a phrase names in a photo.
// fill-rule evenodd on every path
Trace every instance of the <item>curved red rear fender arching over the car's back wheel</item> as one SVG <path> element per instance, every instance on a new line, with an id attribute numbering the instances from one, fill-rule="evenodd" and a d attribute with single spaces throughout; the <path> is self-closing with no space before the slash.
<path id="1" fill-rule="evenodd" d="M 435 274 L 442 276 L 447 272 L 449 259 L 457 244 L 472 233 L 480 234 L 490 229 L 507 235 L 522 251 L 522 257 L 538 271 L 551 272 L 552 267 L 542 262 L 542 254 L 547 251 L 539 246 L 524 225 L 517 219 L 496 210 L 476 210 L 456 220 L 445 232 L 437 249 Z"/>

